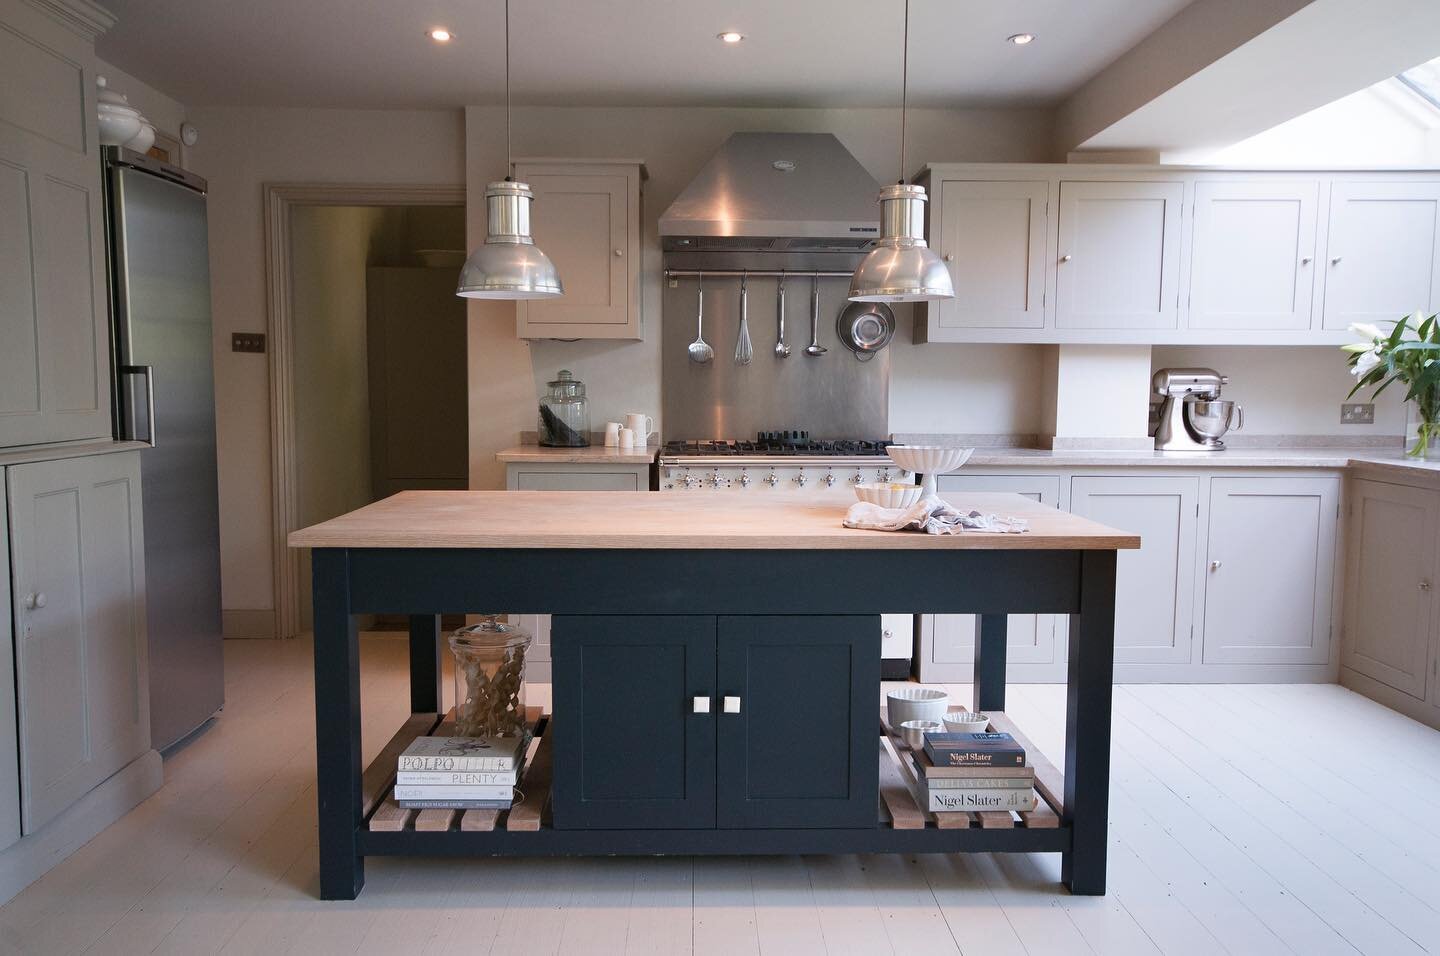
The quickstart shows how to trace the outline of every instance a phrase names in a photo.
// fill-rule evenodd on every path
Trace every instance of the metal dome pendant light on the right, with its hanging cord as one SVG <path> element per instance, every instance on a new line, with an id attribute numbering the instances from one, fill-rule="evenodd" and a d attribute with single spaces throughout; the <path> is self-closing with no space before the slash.
<path id="1" fill-rule="evenodd" d="M 904 0 L 900 58 L 900 180 L 880 190 L 880 239 L 850 278 L 854 302 L 929 302 L 955 298 L 950 271 L 924 240 L 923 186 L 904 181 L 904 120 L 910 88 L 910 0 Z"/>

